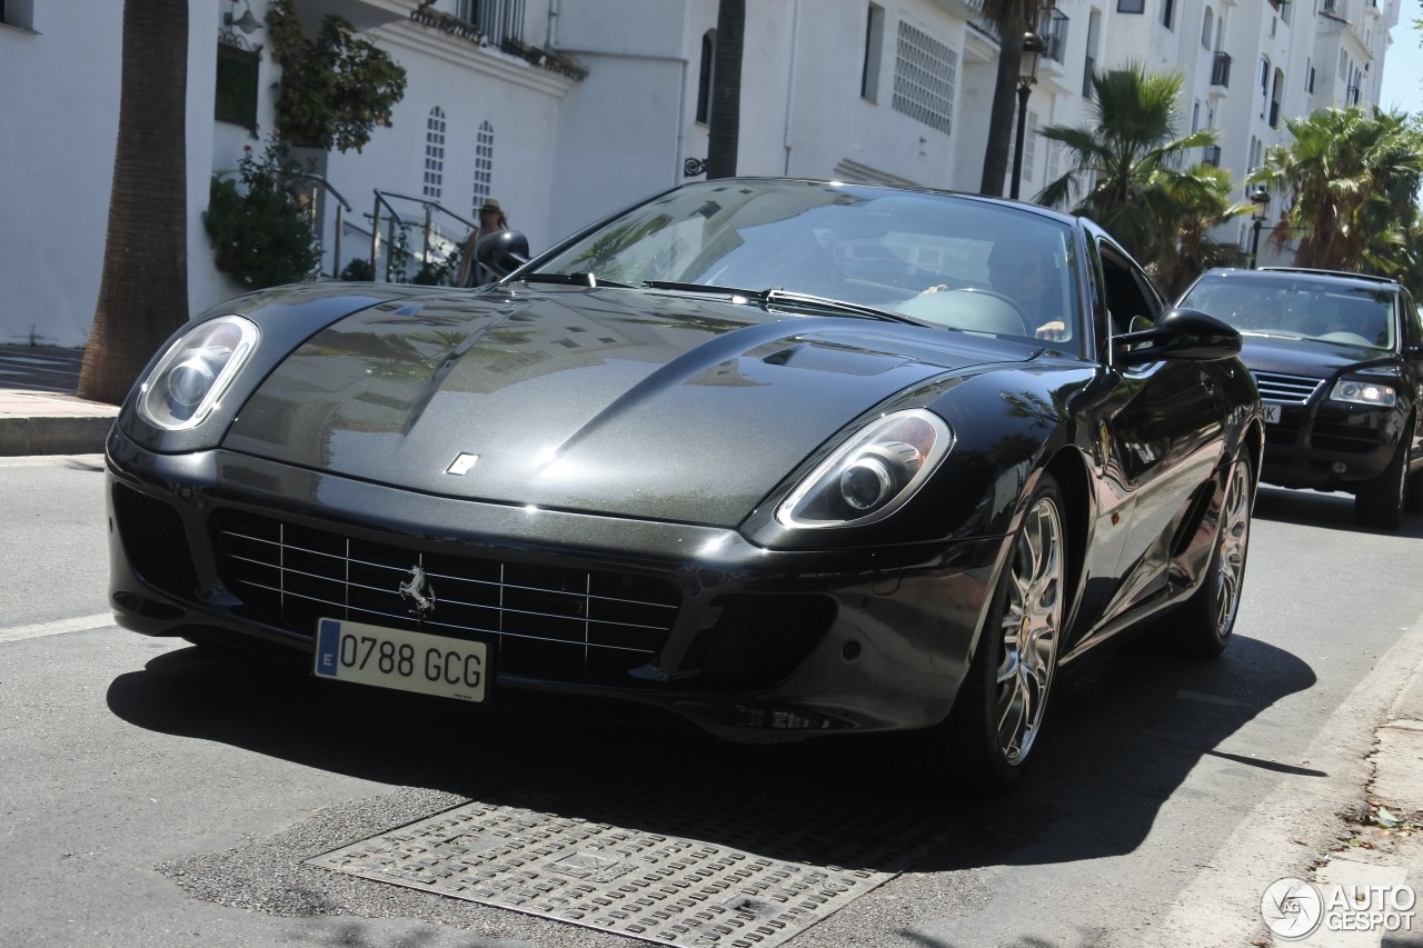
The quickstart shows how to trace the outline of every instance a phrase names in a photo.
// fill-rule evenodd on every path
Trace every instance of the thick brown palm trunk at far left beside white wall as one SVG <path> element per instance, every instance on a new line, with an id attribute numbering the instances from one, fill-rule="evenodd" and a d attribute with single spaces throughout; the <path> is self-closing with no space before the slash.
<path id="1" fill-rule="evenodd" d="M 118 404 L 188 319 L 188 0 L 124 0 L 118 144 L 78 394 Z"/>

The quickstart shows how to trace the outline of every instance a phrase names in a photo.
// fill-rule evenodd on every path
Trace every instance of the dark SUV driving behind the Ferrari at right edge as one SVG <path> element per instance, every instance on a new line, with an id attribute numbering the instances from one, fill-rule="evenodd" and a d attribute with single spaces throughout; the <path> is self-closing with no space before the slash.
<path id="1" fill-rule="evenodd" d="M 1349 491 L 1368 527 L 1423 512 L 1423 322 L 1396 280 L 1212 269 L 1180 305 L 1241 332 L 1265 403 L 1262 481 Z"/>

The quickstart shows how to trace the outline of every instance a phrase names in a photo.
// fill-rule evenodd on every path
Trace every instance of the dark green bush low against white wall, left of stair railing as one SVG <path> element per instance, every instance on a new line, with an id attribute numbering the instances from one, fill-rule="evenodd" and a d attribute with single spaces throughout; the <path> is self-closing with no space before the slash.
<path id="1" fill-rule="evenodd" d="M 248 151 L 236 172 L 212 175 L 202 222 L 218 269 L 248 289 L 307 279 L 320 263 L 299 172 L 285 149 L 270 148 L 260 158 Z"/>

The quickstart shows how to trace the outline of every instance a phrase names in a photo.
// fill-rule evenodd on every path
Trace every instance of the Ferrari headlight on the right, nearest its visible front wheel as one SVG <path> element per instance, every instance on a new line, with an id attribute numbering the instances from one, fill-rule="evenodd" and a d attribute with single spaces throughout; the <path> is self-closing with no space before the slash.
<path id="1" fill-rule="evenodd" d="M 888 517 L 914 497 L 949 453 L 953 434 L 924 409 L 875 418 L 791 491 L 776 518 L 785 527 L 841 527 Z"/>

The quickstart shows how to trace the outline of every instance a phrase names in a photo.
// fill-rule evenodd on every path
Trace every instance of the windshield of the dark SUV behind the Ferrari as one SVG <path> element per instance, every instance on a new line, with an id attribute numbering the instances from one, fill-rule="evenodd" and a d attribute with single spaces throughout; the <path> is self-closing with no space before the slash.
<path id="1" fill-rule="evenodd" d="M 1395 347 L 1393 293 L 1368 286 L 1266 275 L 1205 275 L 1181 300 L 1247 335 Z"/>

